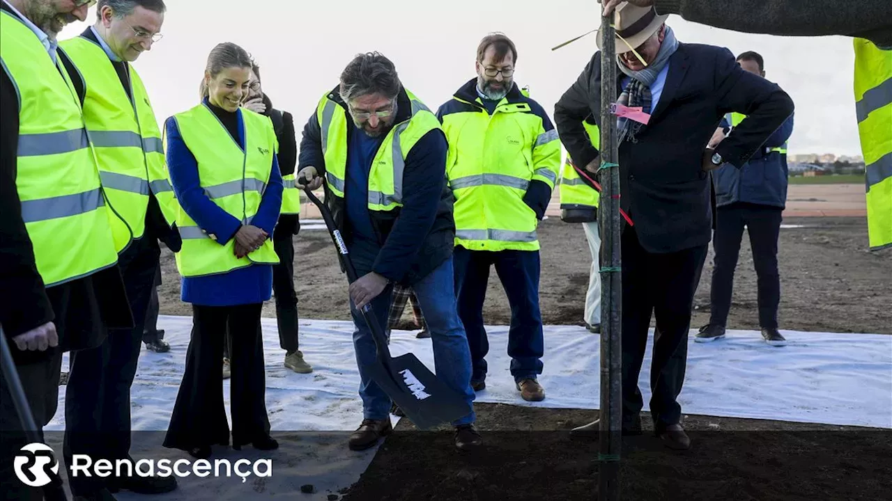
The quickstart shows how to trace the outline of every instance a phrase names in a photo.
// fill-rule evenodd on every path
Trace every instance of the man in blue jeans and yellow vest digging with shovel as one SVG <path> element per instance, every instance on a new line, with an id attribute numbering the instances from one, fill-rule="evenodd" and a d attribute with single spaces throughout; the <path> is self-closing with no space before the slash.
<path id="1" fill-rule="evenodd" d="M 467 405 L 467 414 L 452 422 L 456 447 L 481 444 L 470 351 L 453 289 L 455 223 L 446 152 L 434 113 L 402 86 L 393 63 L 380 53 L 356 56 L 303 129 L 297 184 L 316 189 L 325 181 L 326 205 L 358 275 L 350 298 L 363 421 L 351 434 L 352 450 L 372 448 L 392 431 L 391 396 L 379 385 L 389 383 L 376 372 L 382 358 L 390 359 L 389 353 L 376 357 L 377 349 L 386 349 L 382 340 L 376 348 L 375 336 L 383 339 L 384 331 L 373 333 L 364 315 L 387 324 L 394 283 L 415 291 L 434 344 L 436 380 Z M 409 375 L 424 379 L 404 372 L 407 381 Z M 417 381 L 409 386 L 419 401 L 437 399 Z M 411 408 L 404 410 L 416 421 Z"/>

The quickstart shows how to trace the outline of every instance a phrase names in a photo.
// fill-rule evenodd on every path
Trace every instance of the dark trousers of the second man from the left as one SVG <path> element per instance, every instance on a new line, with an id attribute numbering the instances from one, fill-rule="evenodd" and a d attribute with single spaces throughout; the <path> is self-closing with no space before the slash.
<path id="1" fill-rule="evenodd" d="M 70 354 L 65 387 L 65 439 L 63 455 L 86 454 L 110 460 L 128 457 L 130 450 L 130 386 L 142 347 L 145 310 L 155 279 L 160 250 L 143 238 L 119 256 L 124 288 L 133 313 L 134 327 L 110 330 L 102 344 Z M 72 493 L 100 489 L 97 477 L 70 478 Z"/>

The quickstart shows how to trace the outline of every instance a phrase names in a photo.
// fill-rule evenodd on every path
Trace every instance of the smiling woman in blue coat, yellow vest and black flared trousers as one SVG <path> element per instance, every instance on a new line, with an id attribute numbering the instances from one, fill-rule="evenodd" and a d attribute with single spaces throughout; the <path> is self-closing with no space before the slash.
<path id="1" fill-rule="evenodd" d="M 232 334 L 232 445 L 278 447 L 269 437 L 260 308 L 277 263 L 272 240 L 282 204 L 276 136 L 267 117 L 240 108 L 251 57 L 217 45 L 202 80 L 202 103 L 167 120 L 167 163 L 180 203 L 177 257 L 182 300 L 192 303 L 186 372 L 164 446 L 197 458 L 229 443 L 219 361 Z"/>

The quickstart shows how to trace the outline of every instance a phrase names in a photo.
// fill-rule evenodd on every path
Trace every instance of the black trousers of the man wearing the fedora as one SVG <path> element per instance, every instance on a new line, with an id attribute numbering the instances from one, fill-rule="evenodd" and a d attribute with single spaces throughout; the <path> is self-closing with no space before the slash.
<path id="1" fill-rule="evenodd" d="M 650 412 L 657 430 L 679 423 L 676 401 L 684 383 L 688 358 L 690 308 L 697 278 L 706 260 L 706 245 L 665 254 L 641 247 L 634 228 L 626 226 L 623 247 L 623 421 L 644 405 L 638 378 L 648 343 L 650 317 L 657 317 L 650 364 Z"/>

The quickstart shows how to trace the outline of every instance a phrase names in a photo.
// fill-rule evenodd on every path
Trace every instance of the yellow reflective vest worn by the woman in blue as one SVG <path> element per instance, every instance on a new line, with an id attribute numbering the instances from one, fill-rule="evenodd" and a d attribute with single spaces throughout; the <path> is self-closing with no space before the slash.
<path id="1" fill-rule="evenodd" d="M 276 133 L 267 117 L 244 108 L 237 112 L 242 115 L 244 150 L 203 103 L 174 115 L 174 119 L 183 142 L 198 161 L 199 184 L 205 196 L 246 225 L 260 208 L 269 182 Z M 252 264 L 278 262 L 271 238 L 259 250 L 238 259 L 235 238 L 219 244 L 216 235 L 198 226 L 184 209 L 178 211 L 177 226 L 183 238 L 183 248 L 177 253 L 180 275 L 219 275 Z"/>

